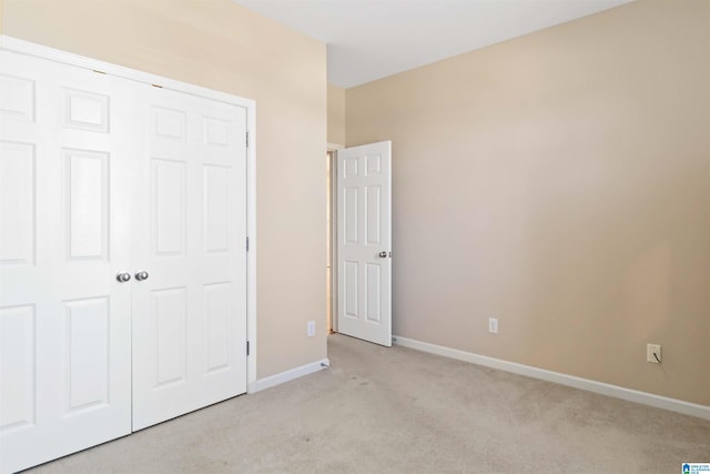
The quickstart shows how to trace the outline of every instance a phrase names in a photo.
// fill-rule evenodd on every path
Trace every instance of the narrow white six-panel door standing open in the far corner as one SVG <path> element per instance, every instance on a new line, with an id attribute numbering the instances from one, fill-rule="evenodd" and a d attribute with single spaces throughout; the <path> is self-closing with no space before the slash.
<path id="1" fill-rule="evenodd" d="M 392 345 L 392 142 L 337 151 L 338 332 Z"/>

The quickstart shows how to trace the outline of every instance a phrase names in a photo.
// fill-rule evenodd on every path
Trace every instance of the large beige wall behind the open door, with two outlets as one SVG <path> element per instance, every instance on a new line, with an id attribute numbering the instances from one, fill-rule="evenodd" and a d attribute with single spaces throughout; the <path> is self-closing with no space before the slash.
<path id="1" fill-rule="evenodd" d="M 348 89 L 394 332 L 710 405 L 709 59 L 710 2 L 645 0 Z"/>

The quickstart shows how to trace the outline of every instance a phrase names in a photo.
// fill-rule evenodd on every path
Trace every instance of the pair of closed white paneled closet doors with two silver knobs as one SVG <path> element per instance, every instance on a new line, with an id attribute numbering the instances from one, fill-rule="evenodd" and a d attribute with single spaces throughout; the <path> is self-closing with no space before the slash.
<path id="1" fill-rule="evenodd" d="M 246 391 L 246 111 L 0 54 L 6 473 Z"/>

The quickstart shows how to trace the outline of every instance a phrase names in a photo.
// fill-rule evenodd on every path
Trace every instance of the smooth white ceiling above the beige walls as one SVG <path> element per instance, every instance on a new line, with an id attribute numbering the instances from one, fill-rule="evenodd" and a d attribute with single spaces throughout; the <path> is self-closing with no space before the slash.
<path id="1" fill-rule="evenodd" d="M 351 88 L 632 0 L 232 0 L 327 43 Z"/>

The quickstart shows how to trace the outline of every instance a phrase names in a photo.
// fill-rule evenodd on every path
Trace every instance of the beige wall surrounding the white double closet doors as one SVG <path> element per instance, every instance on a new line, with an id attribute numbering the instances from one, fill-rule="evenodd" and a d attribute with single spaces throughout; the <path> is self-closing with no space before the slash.
<path id="1" fill-rule="evenodd" d="M 229 0 L 4 0 L 2 32 L 256 101 L 257 376 L 325 357 L 325 46 Z"/>

